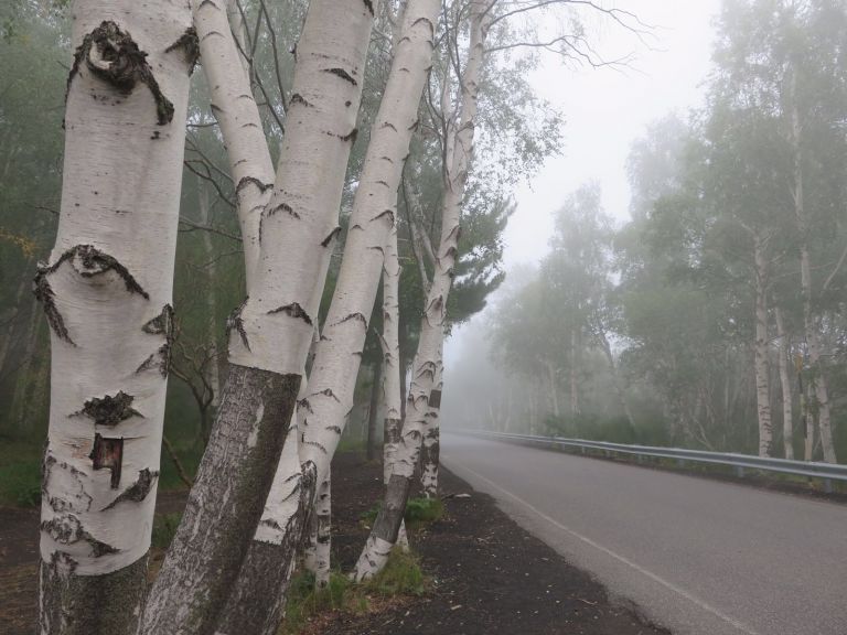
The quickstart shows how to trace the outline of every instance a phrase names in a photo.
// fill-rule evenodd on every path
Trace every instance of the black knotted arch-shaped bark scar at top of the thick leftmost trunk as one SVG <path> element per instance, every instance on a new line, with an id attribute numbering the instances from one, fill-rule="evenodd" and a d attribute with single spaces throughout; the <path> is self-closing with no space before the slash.
<path id="1" fill-rule="evenodd" d="M 98 61 L 92 58 L 97 51 Z M 92 75 L 110 84 L 122 95 L 132 93 L 137 84 L 143 84 L 153 95 L 159 126 L 173 120 L 173 104 L 162 94 L 159 83 L 147 63 L 147 53 L 138 47 L 132 36 L 111 21 L 104 21 L 84 39 L 74 54 L 74 65 L 67 77 L 67 90 L 85 61 Z"/>

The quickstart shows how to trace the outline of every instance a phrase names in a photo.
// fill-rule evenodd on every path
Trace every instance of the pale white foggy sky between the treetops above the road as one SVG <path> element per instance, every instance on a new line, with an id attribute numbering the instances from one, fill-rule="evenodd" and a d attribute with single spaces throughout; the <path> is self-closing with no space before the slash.
<path id="1" fill-rule="evenodd" d="M 720 0 L 618 0 L 615 6 L 655 25 L 648 46 L 610 25 L 596 24 L 589 31 L 607 60 L 634 53 L 632 68 L 565 66 L 550 55 L 532 78 L 537 93 L 566 119 L 565 150 L 516 192 L 517 211 L 504 236 L 506 271 L 544 257 L 553 213 L 582 183 L 598 181 L 605 212 L 625 223 L 630 201 L 625 163 L 632 142 L 668 112 L 685 116 L 703 103 Z M 484 316 L 478 315 L 448 341 L 448 367 L 451 358 L 467 353 L 462 334 L 481 320 Z"/>

